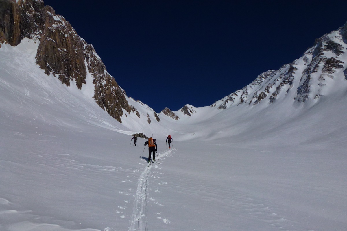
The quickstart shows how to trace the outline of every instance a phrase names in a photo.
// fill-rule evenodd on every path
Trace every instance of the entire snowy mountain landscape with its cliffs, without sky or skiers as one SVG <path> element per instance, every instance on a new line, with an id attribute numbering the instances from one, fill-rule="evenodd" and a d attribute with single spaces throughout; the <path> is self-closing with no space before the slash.
<path id="1" fill-rule="evenodd" d="M 346 228 L 346 25 L 210 106 L 157 114 L 43 1 L 0 13 L 1 231 Z"/>

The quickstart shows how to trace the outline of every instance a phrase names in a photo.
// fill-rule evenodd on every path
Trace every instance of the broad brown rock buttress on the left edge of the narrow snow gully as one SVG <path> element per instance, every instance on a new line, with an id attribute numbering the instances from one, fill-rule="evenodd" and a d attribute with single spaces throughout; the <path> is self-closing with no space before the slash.
<path id="1" fill-rule="evenodd" d="M 75 80 L 81 89 L 86 83 L 87 73 L 83 41 L 63 17 L 56 16 L 50 6 L 43 11 L 43 21 L 36 63 L 46 74 L 52 73 L 67 86 Z"/>

